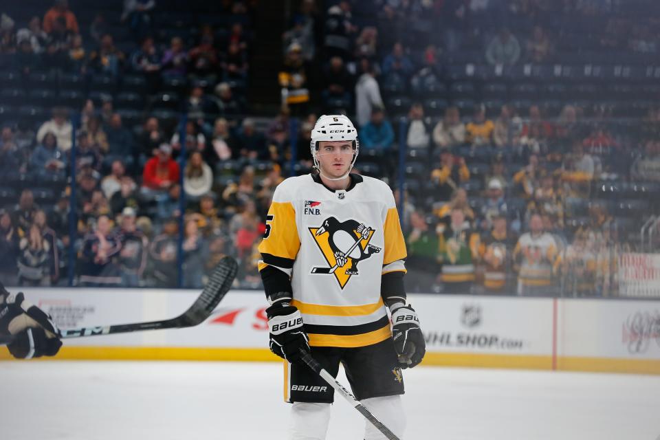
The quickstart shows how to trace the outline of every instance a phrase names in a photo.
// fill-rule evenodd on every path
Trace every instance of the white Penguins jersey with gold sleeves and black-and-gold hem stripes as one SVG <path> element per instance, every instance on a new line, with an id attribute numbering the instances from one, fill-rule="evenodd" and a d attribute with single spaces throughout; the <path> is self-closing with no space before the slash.
<path id="1" fill-rule="evenodd" d="M 259 245 L 259 270 L 270 265 L 291 278 L 311 346 L 363 347 L 391 336 L 381 277 L 406 271 L 399 215 L 384 182 L 351 180 L 348 190 L 312 175 L 283 181 Z"/>

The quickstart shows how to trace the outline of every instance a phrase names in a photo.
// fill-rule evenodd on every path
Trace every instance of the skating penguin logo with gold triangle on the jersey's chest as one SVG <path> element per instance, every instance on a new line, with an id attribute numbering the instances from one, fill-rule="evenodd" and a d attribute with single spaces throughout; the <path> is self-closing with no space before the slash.
<path id="1" fill-rule="evenodd" d="M 325 219 L 319 228 L 309 228 L 316 245 L 330 267 L 312 267 L 312 274 L 334 274 L 340 287 L 358 275 L 358 263 L 380 252 L 369 244 L 375 230 L 356 220 Z"/>

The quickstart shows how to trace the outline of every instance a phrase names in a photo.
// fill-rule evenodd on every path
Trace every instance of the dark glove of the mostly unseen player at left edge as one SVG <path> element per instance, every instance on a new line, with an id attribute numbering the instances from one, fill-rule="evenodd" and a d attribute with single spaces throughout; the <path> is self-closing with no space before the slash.
<path id="1" fill-rule="evenodd" d="M 11 340 L 7 348 L 14 358 L 54 356 L 62 347 L 60 337 L 50 316 L 25 301 L 22 292 L 12 298 L 0 284 L 0 338 Z"/>

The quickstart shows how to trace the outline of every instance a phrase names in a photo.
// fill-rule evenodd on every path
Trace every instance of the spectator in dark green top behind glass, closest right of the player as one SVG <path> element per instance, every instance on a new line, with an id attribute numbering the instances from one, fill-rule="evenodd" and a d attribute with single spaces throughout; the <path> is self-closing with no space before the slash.
<path id="1" fill-rule="evenodd" d="M 433 292 L 437 274 L 441 271 L 439 236 L 420 210 L 410 214 L 410 226 L 410 232 L 406 234 L 406 291 Z"/>

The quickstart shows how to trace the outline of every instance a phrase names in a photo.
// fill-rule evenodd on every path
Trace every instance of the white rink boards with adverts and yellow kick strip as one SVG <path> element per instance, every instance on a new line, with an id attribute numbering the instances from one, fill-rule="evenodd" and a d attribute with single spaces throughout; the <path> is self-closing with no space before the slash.
<path id="1" fill-rule="evenodd" d="M 12 289 L 13 291 L 14 289 Z M 23 289 L 62 328 L 161 320 L 199 292 Z M 660 374 L 660 301 L 410 294 L 426 365 Z M 263 292 L 230 292 L 189 329 L 69 339 L 57 359 L 277 361 L 267 350 Z M 8 359 L 0 350 L 0 360 Z"/>

